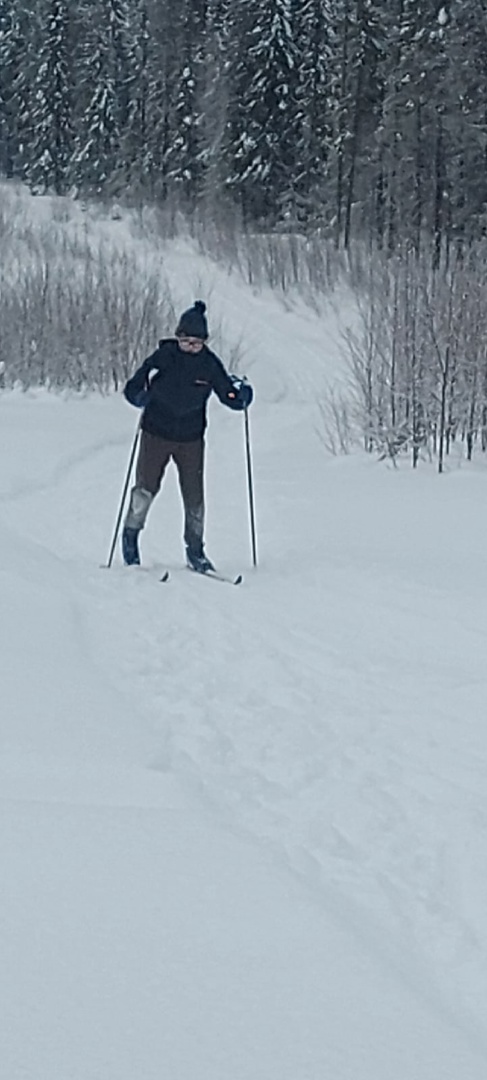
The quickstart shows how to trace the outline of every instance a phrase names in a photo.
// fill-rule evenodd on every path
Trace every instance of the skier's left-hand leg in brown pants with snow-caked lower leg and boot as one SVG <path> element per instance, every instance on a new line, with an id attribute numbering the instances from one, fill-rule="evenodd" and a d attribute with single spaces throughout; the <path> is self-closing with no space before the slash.
<path id="1" fill-rule="evenodd" d="M 122 532 L 123 559 L 138 564 L 138 534 L 144 528 L 150 504 L 161 487 L 162 477 L 171 457 L 173 444 L 158 435 L 143 431 L 135 471 L 135 486 L 131 491 L 128 510 Z"/>

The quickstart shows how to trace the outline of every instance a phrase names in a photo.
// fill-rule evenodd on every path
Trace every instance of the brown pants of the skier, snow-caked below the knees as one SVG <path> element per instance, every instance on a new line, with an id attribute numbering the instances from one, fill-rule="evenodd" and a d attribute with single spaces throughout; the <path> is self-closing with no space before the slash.
<path id="1" fill-rule="evenodd" d="M 197 438 L 191 443 L 175 443 L 159 435 L 149 435 L 143 431 L 138 451 L 135 490 L 149 492 L 152 498 L 158 494 L 168 462 L 173 459 L 179 478 L 179 488 L 185 507 L 185 543 L 192 551 L 199 552 L 203 546 L 204 530 L 204 440 Z M 134 502 L 134 491 L 131 503 Z M 148 500 L 146 513 L 151 499 Z M 128 511 L 128 515 L 131 510 Z M 144 525 L 144 519 L 141 525 Z M 135 524 L 135 522 L 134 522 Z"/>

